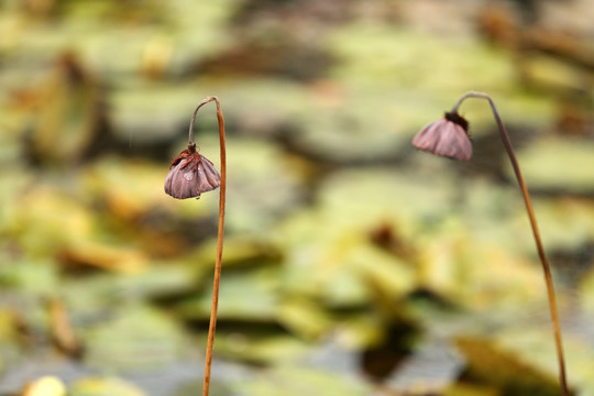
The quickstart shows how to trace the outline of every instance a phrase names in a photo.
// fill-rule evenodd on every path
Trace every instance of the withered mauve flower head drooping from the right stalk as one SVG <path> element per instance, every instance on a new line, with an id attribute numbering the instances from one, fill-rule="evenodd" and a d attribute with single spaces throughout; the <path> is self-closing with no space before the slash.
<path id="1" fill-rule="evenodd" d="M 472 143 L 469 122 L 458 112 L 447 112 L 444 118 L 425 127 L 413 140 L 413 145 L 431 154 L 458 161 L 470 161 Z"/>

